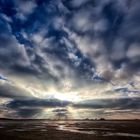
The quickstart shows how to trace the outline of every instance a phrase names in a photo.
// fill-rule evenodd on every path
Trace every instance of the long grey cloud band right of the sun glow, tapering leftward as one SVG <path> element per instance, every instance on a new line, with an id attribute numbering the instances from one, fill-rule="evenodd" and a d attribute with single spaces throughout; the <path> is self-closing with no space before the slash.
<path id="1" fill-rule="evenodd" d="M 76 108 L 92 109 L 139 109 L 140 98 L 119 98 L 119 99 L 93 99 L 85 100 L 74 104 Z"/>

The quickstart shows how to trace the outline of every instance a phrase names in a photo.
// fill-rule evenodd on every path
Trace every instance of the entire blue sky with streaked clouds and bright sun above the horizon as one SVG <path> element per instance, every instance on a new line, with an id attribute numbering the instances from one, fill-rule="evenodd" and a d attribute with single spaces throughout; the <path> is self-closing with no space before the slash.
<path id="1" fill-rule="evenodd" d="M 139 0 L 0 0 L 0 118 L 140 118 Z"/>

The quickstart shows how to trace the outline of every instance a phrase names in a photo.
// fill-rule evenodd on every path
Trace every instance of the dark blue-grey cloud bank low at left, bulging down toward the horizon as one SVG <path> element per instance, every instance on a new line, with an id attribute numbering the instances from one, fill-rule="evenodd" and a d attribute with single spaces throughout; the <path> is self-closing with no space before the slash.
<path id="1" fill-rule="evenodd" d="M 70 102 L 67 101 L 60 101 L 57 99 L 14 99 L 9 101 L 5 106 L 7 110 L 11 110 L 14 112 L 13 114 L 9 113 L 9 117 L 18 118 L 36 118 L 37 116 L 41 116 L 43 113 L 43 109 L 47 108 L 55 108 L 55 107 L 66 107 L 70 105 Z M 56 114 L 66 114 L 66 109 L 54 109 L 54 113 Z"/>

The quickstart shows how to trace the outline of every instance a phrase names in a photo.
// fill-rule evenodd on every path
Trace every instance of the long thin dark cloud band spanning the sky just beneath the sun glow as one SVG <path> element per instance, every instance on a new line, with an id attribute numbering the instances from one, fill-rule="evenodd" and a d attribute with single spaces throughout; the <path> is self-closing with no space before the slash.
<path id="1" fill-rule="evenodd" d="M 118 98 L 118 99 L 92 99 L 83 100 L 78 103 L 68 101 L 60 101 L 57 99 L 25 99 L 13 100 L 7 104 L 11 109 L 22 108 L 51 108 L 51 107 L 66 107 L 74 108 L 89 108 L 89 109 L 138 109 L 140 107 L 140 99 L 135 97 Z M 53 112 L 67 112 L 67 109 L 54 109 Z"/>

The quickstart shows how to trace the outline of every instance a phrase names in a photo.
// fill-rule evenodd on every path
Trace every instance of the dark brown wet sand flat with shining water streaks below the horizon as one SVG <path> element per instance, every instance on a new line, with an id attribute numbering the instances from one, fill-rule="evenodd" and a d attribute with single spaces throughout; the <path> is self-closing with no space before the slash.
<path id="1" fill-rule="evenodd" d="M 0 120 L 0 140 L 140 140 L 140 121 Z"/>

